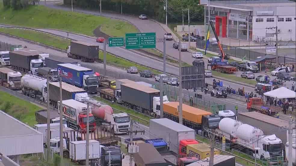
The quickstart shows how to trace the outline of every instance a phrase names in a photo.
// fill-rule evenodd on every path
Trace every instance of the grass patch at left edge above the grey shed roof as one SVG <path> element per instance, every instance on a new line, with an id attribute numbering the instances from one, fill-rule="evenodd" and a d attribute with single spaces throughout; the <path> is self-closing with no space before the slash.
<path id="1" fill-rule="evenodd" d="M 23 123 L 28 124 L 29 126 L 37 124 L 35 121 L 35 111 L 42 108 L 3 91 L 0 91 L 0 99 L 0 110 L 17 118 Z"/>

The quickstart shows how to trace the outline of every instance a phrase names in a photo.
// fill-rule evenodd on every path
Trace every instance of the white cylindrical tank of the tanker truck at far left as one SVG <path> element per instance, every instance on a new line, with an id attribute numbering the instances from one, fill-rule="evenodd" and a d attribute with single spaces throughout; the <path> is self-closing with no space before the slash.
<path id="1" fill-rule="evenodd" d="M 42 92 L 42 85 L 46 84 L 46 81 L 47 79 L 45 78 L 31 74 L 26 74 L 20 79 L 22 87 L 38 90 L 39 92 Z"/>

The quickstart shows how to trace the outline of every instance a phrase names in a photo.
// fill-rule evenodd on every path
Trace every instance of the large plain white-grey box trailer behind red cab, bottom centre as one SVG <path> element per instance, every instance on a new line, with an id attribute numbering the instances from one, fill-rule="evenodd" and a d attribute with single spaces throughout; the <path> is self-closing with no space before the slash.
<path id="1" fill-rule="evenodd" d="M 174 153 L 179 152 L 180 140 L 195 139 L 195 130 L 167 118 L 150 119 L 150 139 L 163 138 Z"/>

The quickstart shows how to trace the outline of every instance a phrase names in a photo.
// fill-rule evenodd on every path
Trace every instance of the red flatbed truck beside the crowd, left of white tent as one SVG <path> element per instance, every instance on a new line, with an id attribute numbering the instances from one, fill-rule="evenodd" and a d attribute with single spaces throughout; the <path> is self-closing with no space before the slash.
<path id="1" fill-rule="evenodd" d="M 263 99 L 258 97 L 249 98 L 247 102 L 248 111 L 257 111 L 262 114 L 274 116 L 276 112 L 282 111 L 282 108 L 273 105 L 265 104 Z"/>

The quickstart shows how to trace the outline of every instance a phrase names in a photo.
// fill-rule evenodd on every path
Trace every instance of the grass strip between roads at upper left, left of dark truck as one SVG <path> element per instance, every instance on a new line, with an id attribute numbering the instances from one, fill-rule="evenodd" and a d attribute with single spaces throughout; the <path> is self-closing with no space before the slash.
<path id="1" fill-rule="evenodd" d="M 66 49 L 66 47 L 70 45 L 70 40 L 30 30 L 0 28 L 0 32 L 11 34 L 17 37 L 22 37 L 24 39 L 39 42 L 59 49 Z"/>

